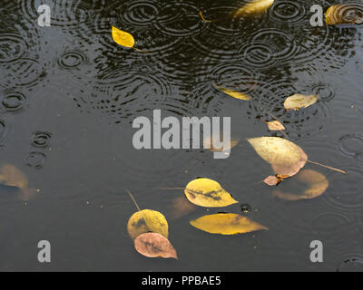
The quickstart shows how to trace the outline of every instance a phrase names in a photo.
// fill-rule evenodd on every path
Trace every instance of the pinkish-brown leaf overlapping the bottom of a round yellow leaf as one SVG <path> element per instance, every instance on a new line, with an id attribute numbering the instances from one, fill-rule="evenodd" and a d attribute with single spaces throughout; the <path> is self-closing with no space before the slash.
<path id="1" fill-rule="evenodd" d="M 171 242 L 158 233 L 145 233 L 135 238 L 134 247 L 143 256 L 178 259 Z"/>

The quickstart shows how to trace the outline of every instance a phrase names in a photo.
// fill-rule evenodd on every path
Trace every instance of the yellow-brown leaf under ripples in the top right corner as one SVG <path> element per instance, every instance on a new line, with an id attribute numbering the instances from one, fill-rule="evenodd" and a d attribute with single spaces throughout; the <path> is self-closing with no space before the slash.
<path id="1" fill-rule="evenodd" d="M 363 24 L 363 5 L 331 5 L 325 14 L 328 25 Z"/>

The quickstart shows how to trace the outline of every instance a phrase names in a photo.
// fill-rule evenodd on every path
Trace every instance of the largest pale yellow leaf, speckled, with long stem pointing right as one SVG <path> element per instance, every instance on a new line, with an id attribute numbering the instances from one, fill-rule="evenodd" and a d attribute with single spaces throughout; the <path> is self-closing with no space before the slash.
<path id="1" fill-rule="evenodd" d="M 279 137 L 260 137 L 248 139 L 260 158 L 270 163 L 280 176 L 293 176 L 305 166 L 308 156 L 289 140 Z"/>

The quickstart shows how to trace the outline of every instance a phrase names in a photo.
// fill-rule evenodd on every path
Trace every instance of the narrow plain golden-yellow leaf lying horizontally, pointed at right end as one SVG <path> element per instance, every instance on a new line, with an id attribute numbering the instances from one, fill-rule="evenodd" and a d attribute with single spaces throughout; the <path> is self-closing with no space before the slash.
<path id="1" fill-rule="evenodd" d="M 191 220 L 191 226 L 211 234 L 236 235 L 269 229 L 237 214 L 215 214 Z"/>

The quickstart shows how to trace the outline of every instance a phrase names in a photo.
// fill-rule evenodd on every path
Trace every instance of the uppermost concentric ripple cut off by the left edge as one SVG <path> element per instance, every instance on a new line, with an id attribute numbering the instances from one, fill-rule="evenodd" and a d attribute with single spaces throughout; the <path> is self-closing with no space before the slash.
<path id="1" fill-rule="evenodd" d="M 27 45 L 17 34 L 0 34 L 0 63 L 9 63 L 25 56 Z"/>

